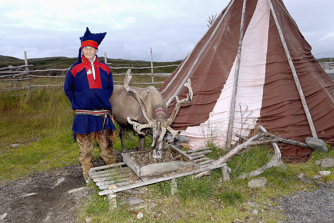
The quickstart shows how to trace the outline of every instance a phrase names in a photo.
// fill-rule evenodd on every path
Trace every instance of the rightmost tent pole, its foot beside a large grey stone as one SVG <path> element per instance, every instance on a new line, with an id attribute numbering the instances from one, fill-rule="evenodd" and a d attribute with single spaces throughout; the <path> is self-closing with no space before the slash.
<path id="1" fill-rule="evenodd" d="M 303 91 L 302 91 L 302 87 L 299 83 L 299 79 L 298 79 L 298 76 L 297 76 L 297 73 L 296 73 L 296 70 L 295 70 L 295 66 L 293 65 L 293 62 L 292 62 L 292 59 L 291 59 L 291 56 L 290 56 L 290 53 L 289 53 L 289 50 L 288 50 L 288 46 L 285 42 L 280 24 L 278 23 L 278 19 L 276 17 L 276 13 L 275 13 L 273 4 L 272 4 L 271 0 L 268 0 L 268 3 L 269 3 L 270 10 L 273 14 L 273 17 L 274 17 L 274 20 L 275 20 L 275 23 L 276 23 L 278 33 L 280 34 L 280 38 L 281 38 L 281 41 L 282 41 L 282 44 L 283 44 L 283 47 L 284 47 L 285 54 L 286 54 L 286 56 L 288 58 L 288 61 L 289 61 L 289 65 L 290 65 L 290 68 L 291 68 L 291 71 L 292 71 L 292 76 L 293 76 L 293 79 L 295 80 L 297 90 L 298 90 L 298 93 L 299 93 L 299 97 L 300 97 L 300 99 L 302 101 L 302 104 L 303 104 L 305 115 L 306 115 L 307 121 L 308 121 L 310 129 L 311 129 L 312 137 L 313 138 L 318 138 L 317 131 L 314 128 L 314 124 L 313 124 L 313 121 L 312 121 L 312 117 L 311 117 L 309 108 L 307 107 L 307 103 L 306 103 L 306 99 L 305 99 L 305 96 L 304 96 Z"/>

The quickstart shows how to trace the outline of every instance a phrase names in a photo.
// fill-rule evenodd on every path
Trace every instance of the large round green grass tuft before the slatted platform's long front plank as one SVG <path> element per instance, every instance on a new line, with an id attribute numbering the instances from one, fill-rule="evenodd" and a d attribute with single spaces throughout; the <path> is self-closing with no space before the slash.
<path id="1" fill-rule="evenodd" d="M 212 183 L 204 177 L 184 177 L 177 180 L 176 195 L 184 207 L 193 207 L 197 203 L 208 203 L 213 195 Z"/>

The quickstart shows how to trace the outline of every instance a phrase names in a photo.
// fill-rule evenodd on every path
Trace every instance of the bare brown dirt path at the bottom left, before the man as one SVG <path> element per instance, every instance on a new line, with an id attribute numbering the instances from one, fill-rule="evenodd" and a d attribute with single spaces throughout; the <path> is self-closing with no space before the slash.
<path id="1" fill-rule="evenodd" d="M 0 223 L 48 222 L 73 223 L 74 208 L 88 190 L 68 194 L 67 191 L 85 186 L 81 169 L 66 166 L 52 173 L 38 173 L 10 181 L 0 189 Z M 31 194 L 9 204 L 23 194 Z M 7 213 L 7 214 L 6 214 Z"/>

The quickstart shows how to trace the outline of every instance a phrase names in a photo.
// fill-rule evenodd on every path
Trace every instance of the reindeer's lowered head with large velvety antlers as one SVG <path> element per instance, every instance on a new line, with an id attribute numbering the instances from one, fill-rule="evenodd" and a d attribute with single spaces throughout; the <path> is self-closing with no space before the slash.
<path id="1" fill-rule="evenodd" d="M 146 92 L 144 97 L 141 97 L 135 90 L 133 90 L 131 87 L 129 87 L 129 82 L 132 78 L 131 76 L 131 70 L 129 69 L 127 71 L 127 74 L 125 76 L 125 81 L 124 81 L 124 87 L 125 90 L 128 92 L 131 92 L 134 94 L 135 98 L 139 102 L 139 105 L 142 109 L 143 115 L 147 121 L 147 124 L 139 124 L 138 122 L 131 121 L 130 118 L 128 117 L 127 120 L 128 122 L 133 125 L 133 129 L 140 135 L 145 135 L 145 132 L 142 132 L 144 129 L 150 129 L 152 133 L 152 145 L 153 147 L 153 158 L 154 159 L 161 159 L 162 157 L 162 150 L 165 145 L 165 138 L 166 138 L 166 131 L 169 131 L 172 133 L 173 138 L 167 142 L 167 144 L 172 143 L 175 138 L 180 135 L 181 130 L 175 131 L 173 130 L 169 125 L 174 121 L 174 118 L 179 111 L 179 108 L 181 107 L 182 104 L 184 103 L 190 103 L 192 100 L 192 89 L 191 89 L 191 82 L 190 79 L 188 79 L 188 83 L 185 83 L 184 86 L 189 89 L 189 94 L 187 94 L 187 98 L 179 100 L 179 98 L 176 96 L 176 106 L 174 108 L 174 111 L 172 112 L 172 115 L 170 118 L 152 118 L 146 109 L 146 106 L 144 104 L 145 99 L 147 98 L 149 94 L 149 90 Z M 165 103 L 162 101 L 162 103 Z"/>

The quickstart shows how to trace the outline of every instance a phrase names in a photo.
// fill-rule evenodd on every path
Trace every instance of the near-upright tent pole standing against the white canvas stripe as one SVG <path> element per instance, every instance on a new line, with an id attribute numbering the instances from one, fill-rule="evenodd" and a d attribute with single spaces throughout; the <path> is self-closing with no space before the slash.
<path id="1" fill-rule="evenodd" d="M 230 117 L 229 117 L 229 122 L 228 122 L 226 148 L 231 148 L 231 141 L 232 141 L 232 129 L 233 129 L 233 120 L 234 120 L 236 92 L 237 92 L 237 88 L 238 88 L 238 77 L 239 77 L 239 68 L 240 68 L 243 26 L 244 26 L 244 21 L 245 21 L 245 11 L 246 11 L 246 0 L 243 0 L 241 23 L 240 23 L 239 45 L 238 45 L 238 53 L 236 55 L 236 65 L 235 65 L 234 82 L 233 82 L 233 93 L 232 93 L 232 100 L 231 100 L 231 112 L 230 112 Z"/>

